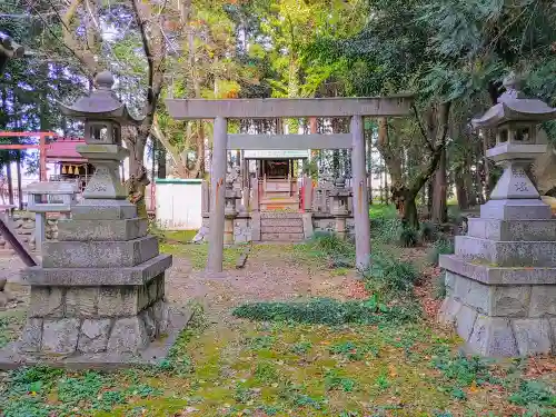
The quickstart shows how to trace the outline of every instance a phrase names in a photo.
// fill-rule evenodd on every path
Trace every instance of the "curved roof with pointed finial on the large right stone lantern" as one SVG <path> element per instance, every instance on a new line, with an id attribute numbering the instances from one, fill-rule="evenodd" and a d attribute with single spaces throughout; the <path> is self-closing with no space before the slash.
<path id="1" fill-rule="evenodd" d="M 475 128 L 495 128 L 508 121 L 543 122 L 556 118 L 556 108 L 538 99 L 527 99 L 519 90 L 519 80 L 514 73 L 504 79 L 506 91 L 498 102 L 483 117 L 473 119 Z"/>

